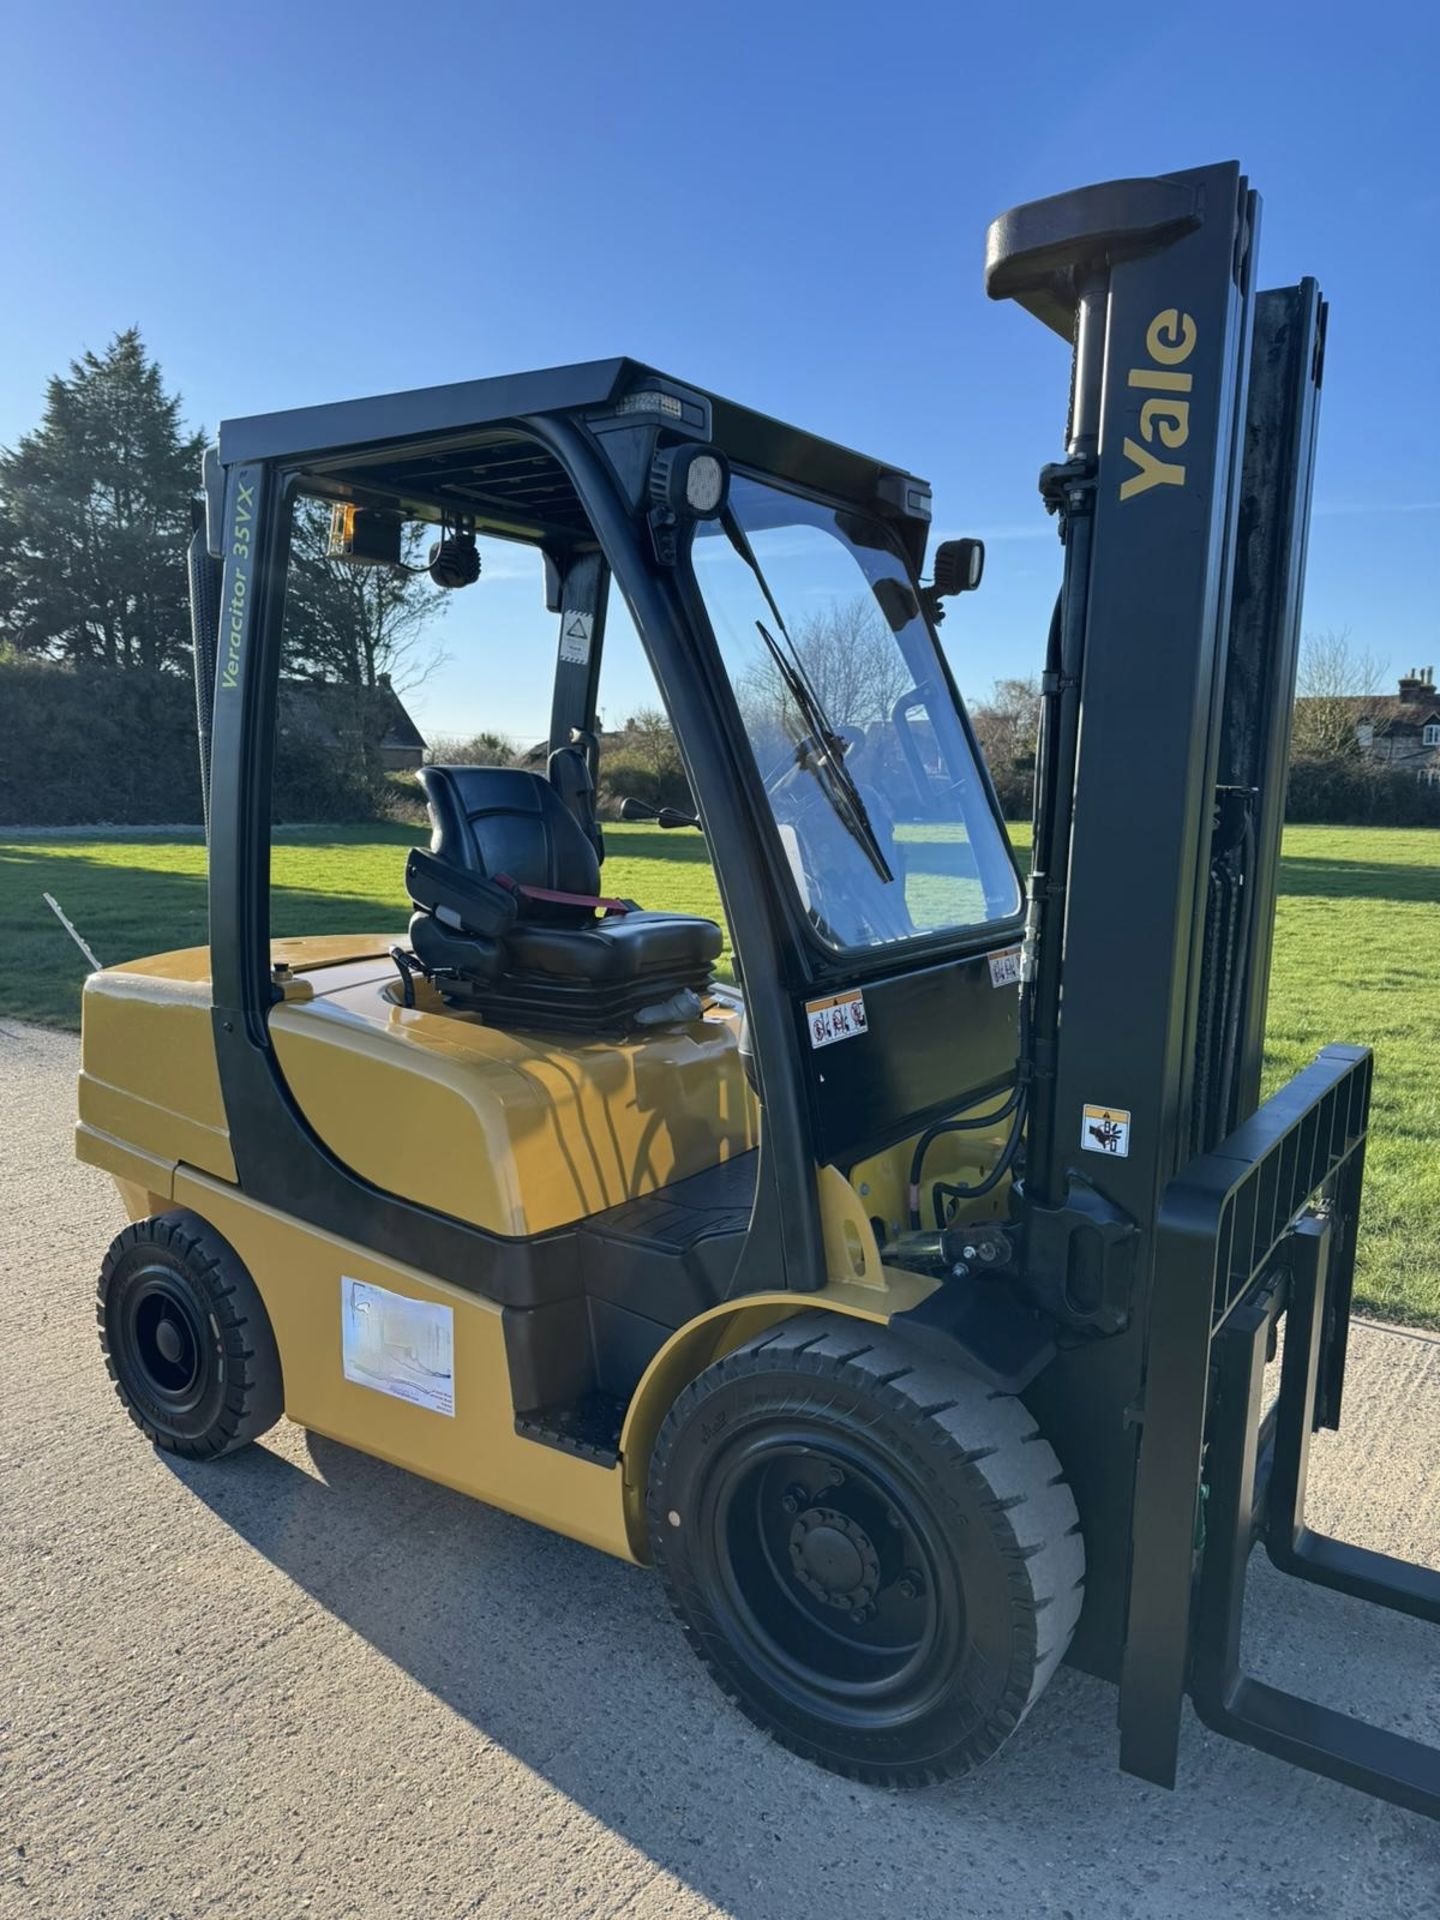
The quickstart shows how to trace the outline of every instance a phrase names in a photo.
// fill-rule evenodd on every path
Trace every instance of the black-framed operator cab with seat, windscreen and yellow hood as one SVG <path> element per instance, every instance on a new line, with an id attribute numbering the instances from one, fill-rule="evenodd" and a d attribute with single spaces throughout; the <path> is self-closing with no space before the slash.
<path id="1" fill-rule="evenodd" d="M 945 543 L 922 584 L 924 482 L 599 361 L 228 422 L 205 507 L 211 1006 L 248 1194 L 501 1302 L 516 1411 L 551 1427 L 622 1407 L 735 1292 L 879 1284 L 920 1225 L 916 1140 L 937 1217 L 975 1173 L 1002 1204 L 1021 889 L 937 645 L 981 555 Z M 495 541 L 528 549 L 553 622 L 545 741 L 420 768 L 403 937 L 349 902 L 353 939 L 276 941 L 276 695 L 317 651 L 317 564 L 380 593 L 428 572 L 513 670 L 534 641 Z M 192 549 L 204 634 L 194 572 Z M 724 931 L 607 883 L 599 801 L 634 795 L 607 776 L 601 670 L 626 647 L 689 804 L 620 816 L 678 829 L 660 885 L 712 866 Z M 935 1139 L 987 1100 L 981 1131 Z"/>

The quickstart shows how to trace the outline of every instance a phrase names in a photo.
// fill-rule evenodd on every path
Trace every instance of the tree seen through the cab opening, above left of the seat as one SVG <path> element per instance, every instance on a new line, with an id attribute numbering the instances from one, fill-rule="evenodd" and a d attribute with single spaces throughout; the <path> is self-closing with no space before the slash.
<path id="1" fill-rule="evenodd" d="M 447 597 L 424 572 L 405 570 L 422 566 L 430 538 L 428 526 L 405 526 L 401 568 L 332 561 L 330 507 L 301 497 L 290 536 L 284 670 L 351 687 L 419 687 L 445 659 L 428 641 L 428 628 L 444 616 Z"/>

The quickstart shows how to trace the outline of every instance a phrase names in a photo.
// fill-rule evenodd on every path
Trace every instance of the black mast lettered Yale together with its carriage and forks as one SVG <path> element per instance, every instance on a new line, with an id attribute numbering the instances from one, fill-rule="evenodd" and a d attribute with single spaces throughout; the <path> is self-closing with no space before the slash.
<path id="1" fill-rule="evenodd" d="M 1173 1784 L 1188 1690 L 1233 1738 L 1436 1814 L 1436 1753 L 1238 1670 L 1258 1536 L 1286 1572 L 1440 1619 L 1440 1576 L 1302 1515 L 1309 1432 L 1338 1425 L 1371 1056 L 1327 1048 L 1258 1106 L 1327 313 L 1313 280 L 1258 292 L 1258 232 L 1233 163 L 989 232 L 989 294 L 1073 346 L 1041 474 L 1064 584 L 1021 1185 L 1025 1284 L 1071 1344 L 1033 1405 L 1075 1478 L 1071 1657 L 1119 1670 L 1121 1764 Z"/>

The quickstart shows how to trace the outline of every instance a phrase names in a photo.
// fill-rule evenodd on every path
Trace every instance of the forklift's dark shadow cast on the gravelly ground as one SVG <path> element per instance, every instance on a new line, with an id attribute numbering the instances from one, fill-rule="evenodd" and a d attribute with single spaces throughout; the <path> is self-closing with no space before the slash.
<path id="1" fill-rule="evenodd" d="M 895 1795 L 826 1776 L 720 1699 L 655 1576 L 349 1448 L 307 1444 L 315 1475 L 265 1448 L 219 1467 L 167 1465 L 476 1734 L 737 1920 L 833 1910 L 849 1874 L 893 1884 L 920 1916 L 1423 1910 L 1407 1899 L 1434 1874 L 1428 1822 L 1194 1724 L 1179 1793 L 1129 1780 L 1116 1768 L 1114 1692 L 1069 1670 L 973 1782 Z M 1269 1572 L 1254 1584 L 1286 1609 L 1286 1640 L 1334 1645 L 1334 1624 L 1327 1642 L 1311 1622 L 1311 1603 L 1334 1596 L 1277 1596 Z M 1382 1674 L 1380 1695 L 1402 1715 L 1425 1655 L 1415 1622 L 1367 1611 L 1350 1632 L 1367 1686 Z M 357 1709 L 336 1697 L 334 1711 Z M 1386 1878 L 1400 1897 L 1350 1905 L 1306 1836 L 1325 1822 L 1359 1845 L 1377 1820 L 1394 1828 Z"/>

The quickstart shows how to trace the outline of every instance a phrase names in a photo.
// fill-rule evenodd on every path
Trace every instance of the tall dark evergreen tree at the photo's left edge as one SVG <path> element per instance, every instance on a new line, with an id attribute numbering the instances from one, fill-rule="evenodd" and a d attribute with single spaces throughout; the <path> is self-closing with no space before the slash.
<path id="1" fill-rule="evenodd" d="M 188 664 L 202 445 L 134 326 L 50 380 L 40 426 L 0 451 L 0 634 L 17 651 Z"/>

